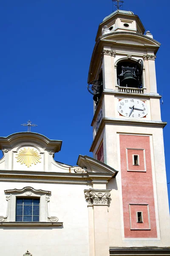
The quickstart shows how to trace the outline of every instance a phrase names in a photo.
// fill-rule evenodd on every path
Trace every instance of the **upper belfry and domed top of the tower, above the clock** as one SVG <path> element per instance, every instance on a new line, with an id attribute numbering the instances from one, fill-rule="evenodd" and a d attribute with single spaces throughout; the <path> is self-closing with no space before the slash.
<path id="1" fill-rule="evenodd" d="M 106 91 L 158 95 L 154 60 L 160 43 L 144 31 L 138 15 L 119 9 L 99 24 L 88 73 L 96 105 Z"/>

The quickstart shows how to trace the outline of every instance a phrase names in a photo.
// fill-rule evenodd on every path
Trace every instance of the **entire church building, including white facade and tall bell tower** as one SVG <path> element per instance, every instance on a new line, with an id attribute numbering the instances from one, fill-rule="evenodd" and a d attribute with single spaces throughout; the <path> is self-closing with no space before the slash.
<path id="1" fill-rule="evenodd" d="M 155 58 L 159 42 L 117 10 L 96 35 L 88 75 L 93 158 L 54 160 L 62 141 L 0 137 L 0 252 L 7 256 L 170 255 Z"/>

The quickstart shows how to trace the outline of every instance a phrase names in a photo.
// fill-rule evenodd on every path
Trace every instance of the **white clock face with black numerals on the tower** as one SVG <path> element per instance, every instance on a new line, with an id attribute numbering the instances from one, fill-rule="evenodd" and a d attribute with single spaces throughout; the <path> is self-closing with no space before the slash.
<path id="1" fill-rule="evenodd" d="M 147 115 L 147 105 L 139 99 L 122 99 L 118 102 L 117 111 L 125 117 L 141 118 Z"/>

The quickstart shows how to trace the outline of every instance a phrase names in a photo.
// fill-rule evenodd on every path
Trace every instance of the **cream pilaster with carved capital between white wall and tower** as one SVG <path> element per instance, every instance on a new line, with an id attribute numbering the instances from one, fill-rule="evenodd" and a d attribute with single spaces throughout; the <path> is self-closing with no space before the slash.
<path id="1" fill-rule="evenodd" d="M 111 196 L 110 191 L 111 189 L 84 190 L 85 199 L 88 201 L 89 218 L 92 216 L 94 218 L 89 219 L 90 256 L 109 256 L 108 200 Z"/>

